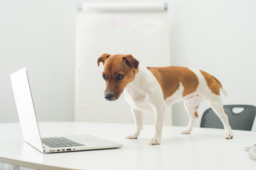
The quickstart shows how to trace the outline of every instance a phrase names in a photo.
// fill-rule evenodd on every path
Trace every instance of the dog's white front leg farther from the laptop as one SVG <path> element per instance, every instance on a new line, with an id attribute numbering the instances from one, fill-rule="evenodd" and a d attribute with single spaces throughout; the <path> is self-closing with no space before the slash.
<path id="1" fill-rule="evenodd" d="M 156 108 L 154 108 L 155 133 L 154 133 L 154 137 L 152 137 L 151 140 L 149 140 L 149 145 L 159 145 L 161 143 L 161 135 L 162 135 L 162 131 L 163 131 L 165 108 L 166 107 L 164 107 L 164 106 L 156 106 Z"/>

